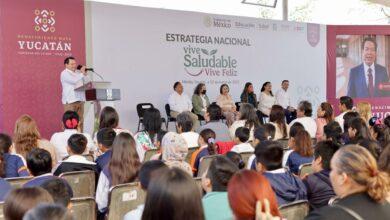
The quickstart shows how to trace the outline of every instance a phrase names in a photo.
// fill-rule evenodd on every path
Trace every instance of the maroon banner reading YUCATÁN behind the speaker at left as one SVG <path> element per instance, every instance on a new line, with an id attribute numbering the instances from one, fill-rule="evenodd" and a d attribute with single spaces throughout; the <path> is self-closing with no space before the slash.
<path id="1" fill-rule="evenodd" d="M 0 130 L 22 114 L 50 138 L 61 128 L 65 57 L 85 60 L 82 0 L 0 0 Z"/>

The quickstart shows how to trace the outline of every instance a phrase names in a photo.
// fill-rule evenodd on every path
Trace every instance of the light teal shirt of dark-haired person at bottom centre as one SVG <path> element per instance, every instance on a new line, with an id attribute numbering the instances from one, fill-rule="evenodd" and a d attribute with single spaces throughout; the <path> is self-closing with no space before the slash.
<path id="1" fill-rule="evenodd" d="M 203 197 L 202 204 L 206 220 L 234 219 L 227 192 L 209 192 Z"/>

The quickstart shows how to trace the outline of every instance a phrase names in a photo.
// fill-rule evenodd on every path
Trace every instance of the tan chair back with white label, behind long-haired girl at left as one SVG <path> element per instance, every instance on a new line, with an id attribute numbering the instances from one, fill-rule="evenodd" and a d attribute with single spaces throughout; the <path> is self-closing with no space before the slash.
<path id="1" fill-rule="evenodd" d="M 111 187 L 108 204 L 108 219 L 122 220 L 131 210 L 145 203 L 145 192 L 139 183 L 120 184 Z"/>

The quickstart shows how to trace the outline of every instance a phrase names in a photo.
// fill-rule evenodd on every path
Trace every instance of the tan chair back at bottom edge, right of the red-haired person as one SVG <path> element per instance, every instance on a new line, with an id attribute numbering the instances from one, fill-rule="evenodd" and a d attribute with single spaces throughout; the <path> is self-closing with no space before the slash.
<path id="1" fill-rule="evenodd" d="M 279 207 L 282 218 L 288 220 L 303 220 L 309 214 L 309 202 L 298 200 Z"/>

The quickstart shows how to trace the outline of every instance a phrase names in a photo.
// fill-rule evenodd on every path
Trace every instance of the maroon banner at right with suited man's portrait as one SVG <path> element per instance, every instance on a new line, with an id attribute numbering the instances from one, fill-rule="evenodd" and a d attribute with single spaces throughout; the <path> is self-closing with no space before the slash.
<path id="1" fill-rule="evenodd" d="M 369 101 L 374 115 L 390 115 L 389 26 L 328 26 L 327 98 Z"/>

